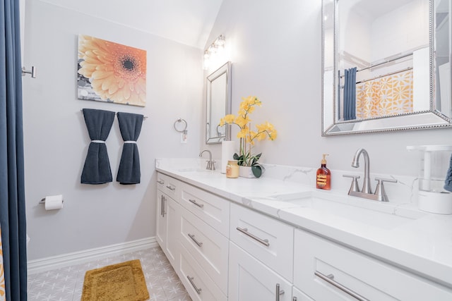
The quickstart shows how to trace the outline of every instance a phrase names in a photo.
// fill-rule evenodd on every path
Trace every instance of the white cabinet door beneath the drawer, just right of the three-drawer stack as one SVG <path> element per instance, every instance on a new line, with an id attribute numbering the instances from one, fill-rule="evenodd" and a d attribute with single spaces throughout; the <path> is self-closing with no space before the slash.
<path id="1" fill-rule="evenodd" d="M 292 284 L 289 281 L 232 242 L 229 273 L 229 300 L 292 300 Z M 279 285 L 279 294 L 276 285 Z"/>

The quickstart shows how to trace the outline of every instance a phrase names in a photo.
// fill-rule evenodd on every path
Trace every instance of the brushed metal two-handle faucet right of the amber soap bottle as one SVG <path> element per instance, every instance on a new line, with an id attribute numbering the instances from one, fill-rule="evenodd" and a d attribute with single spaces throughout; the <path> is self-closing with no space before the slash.
<path id="1" fill-rule="evenodd" d="M 359 186 L 357 183 L 357 179 L 359 176 L 351 176 L 344 175 L 346 178 L 352 178 L 352 185 L 350 186 L 350 190 L 348 191 L 348 195 L 352 195 L 354 197 L 364 197 L 364 199 L 374 199 L 375 201 L 380 202 L 388 202 L 388 195 L 386 195 L 386 191 L 384 190 L 383 183 L 391 182 L 397 183 L 395 179 L 384 179 L 384 178 L 375 178 L 378 182 L 376 185 L 375 192 L 372 192 L 372 188 L 370 187 L 370 159 L 369 154 L 366 149 L 358 149 L 353 156 L 352 167 L 359 167 L 359 156 L 364 156 L 364 181 L 362 183 L 362 189 L 359 190 Z"/>

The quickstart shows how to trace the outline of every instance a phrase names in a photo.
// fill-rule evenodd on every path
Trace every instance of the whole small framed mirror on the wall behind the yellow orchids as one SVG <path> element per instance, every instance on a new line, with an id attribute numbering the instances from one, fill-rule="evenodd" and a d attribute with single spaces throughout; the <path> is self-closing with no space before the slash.
<path id="1" fill-rule="evenodd" d="M 231 62 L 206 78 L 206 144 L 231 140 L 230 125 L 218 126 L 220 119 L 231 113 Z"/>

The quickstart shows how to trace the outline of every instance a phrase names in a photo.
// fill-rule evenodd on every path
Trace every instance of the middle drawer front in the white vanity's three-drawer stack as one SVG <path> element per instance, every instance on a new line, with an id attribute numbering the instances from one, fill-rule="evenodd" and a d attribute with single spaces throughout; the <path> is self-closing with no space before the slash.
<path id="1" fill-rule="evenodd" d="M 201 268 L 227 294 L 229 240 L 186 210 L 181 216 L 180 240 Z"/>

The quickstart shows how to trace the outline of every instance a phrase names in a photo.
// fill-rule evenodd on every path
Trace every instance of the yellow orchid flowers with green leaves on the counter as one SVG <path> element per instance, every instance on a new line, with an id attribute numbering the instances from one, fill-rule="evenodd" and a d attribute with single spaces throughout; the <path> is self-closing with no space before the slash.
<path id="1" fill-rule="evenodd" d="M 262 153 L 252 154 L 251 149 L 256 141 L 275 140 L 278 135 L 277 131 L 273 127 L 273 124 L 262 123 L 256 125 L 256 131 L 251 130 L 251 118 L 249 115 L 254 111 L 256 106 L 261 106 L 262 102 L 258 97 L 249 96 L 242 97 L 243 101 L 240 103 L 237 117 L 234 114 L 226 115 L 220 119 L 220 126 L 226 124 L 234 124 L 240 128 L 237 137 L 240 138 L 239 154 L 234 154 L 234 159 L 237 160 L 239 166 L 251 166 L 256 178 L 262 174 L 262 166 L 258 164 L 258 160 L 261 158 Z"/>

